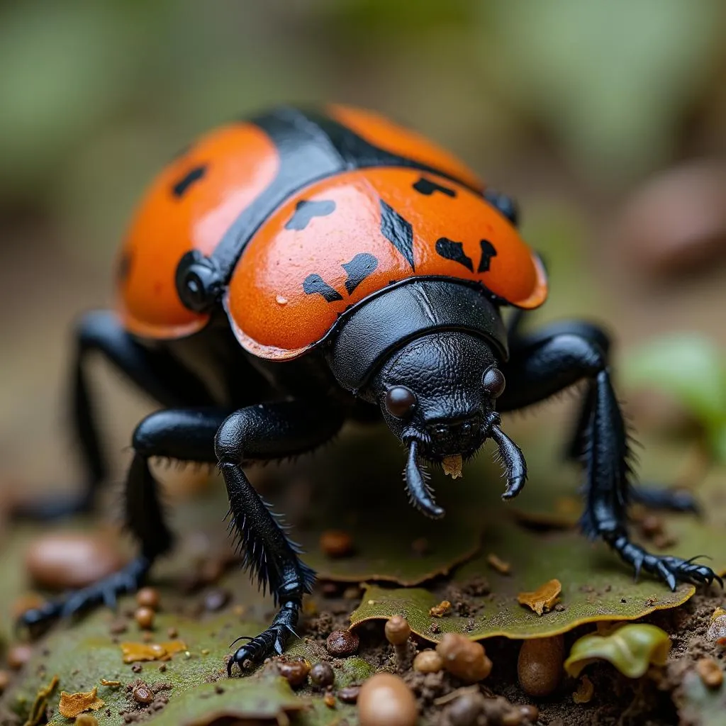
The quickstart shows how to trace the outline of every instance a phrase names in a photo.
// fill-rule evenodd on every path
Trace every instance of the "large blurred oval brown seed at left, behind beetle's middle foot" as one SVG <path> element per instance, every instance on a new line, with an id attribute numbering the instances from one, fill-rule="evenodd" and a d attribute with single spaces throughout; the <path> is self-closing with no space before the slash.
<path id="1" fill-rule="evenodd" d="M 46 534 L 25 553 L 28 574 L 49 590 L 87 587 L 123 564 L 123 557 L 110 539 L 80 532 Z"/>

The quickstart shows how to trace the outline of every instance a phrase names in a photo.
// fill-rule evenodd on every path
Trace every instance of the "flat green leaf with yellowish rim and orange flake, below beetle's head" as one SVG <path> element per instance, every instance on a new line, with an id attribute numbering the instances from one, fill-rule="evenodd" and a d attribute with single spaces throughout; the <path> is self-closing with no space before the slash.
<path id="1" fill-rule="evenodd" d="M 441 640 L 446 632 L 457 632 L 473 640 L 494 636 L 550 637 L 585 623 L 635 620 L 654 610 L 674 608 L 695 592 L 690 584 L 680 584 L 676 592 L 671 592 L 664 583 L 647 577 L 635 583 L 632 572 L 604 544 L 588 544 L 576 531 L 534 533 L 502 515 L 486 530 L 483 552 L 457 570 L 448 587 L 424 590 L 369 585 L 361 605 L 351 615 L 351 624 L 403 615 L 417 635 L 433 641 Z M 489 552 L 510 563 L 509 575 L 492 570 L 486 558 Z M 555 608 L 538 616 L 518 604 L 519 592 L 537 590 L 555 577 L 562 583 L 563 609 Z M 482 578 L 489 582 L 491 593 L 465 595 L 460 599 L 473 613 L 456 614 L 455 591 L 465 592 L 467 584 Z M 444 599 L 454 605 L 452 614 L 443 618 L 430 616 L 430 608 Z"/>

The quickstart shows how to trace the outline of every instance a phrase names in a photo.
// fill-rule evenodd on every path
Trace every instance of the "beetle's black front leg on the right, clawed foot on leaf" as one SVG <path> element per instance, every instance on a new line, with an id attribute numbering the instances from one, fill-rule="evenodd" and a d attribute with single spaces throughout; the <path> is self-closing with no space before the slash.
<path id="1" fill-rule="evenodd" d="M 645 569 L 672 589 L 679 580 L 713 582 L 711 568 L 674 557 L 652 555 L 629 541 L 627 507 L 631 501 L 627 431 L 610 380 L 603 348 L 585 324 L 558 324 L 518 341 L 502 371 L 507 388 L 499 397 L 501 411 L 520 409 L 587 380 L 587 415 L 581 417 L 579 448 L 584 463 L 585 510 L 582 528 L 602 537 L 636 573 Z M 603 333 L 600 333 L 603 335 Z"/>

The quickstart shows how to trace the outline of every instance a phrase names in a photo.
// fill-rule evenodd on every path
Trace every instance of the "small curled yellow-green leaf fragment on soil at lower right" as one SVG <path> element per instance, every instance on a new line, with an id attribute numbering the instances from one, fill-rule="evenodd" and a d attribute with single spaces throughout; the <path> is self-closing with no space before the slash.
<path id="1" fill-rule="evenodd" d="M 647 623 L 634 623 L 618 628 L 611 635 L 593 633 L 576 640 L 565 661 L 565 670 L 578 677 L 586 666 L 603 660 L 628 678 L 640 678 L 651 664 L 664 665 L 670 649 L 671 639 L 664 630 Z"/>

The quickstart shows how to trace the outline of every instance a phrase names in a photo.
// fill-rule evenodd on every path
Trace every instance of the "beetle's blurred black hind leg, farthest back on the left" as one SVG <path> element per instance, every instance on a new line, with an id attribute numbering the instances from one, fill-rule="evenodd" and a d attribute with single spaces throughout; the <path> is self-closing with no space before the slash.
<path id="1" fill-rule="evenodd" d="M 88 383 L 88 362 L 93 353 L 105 356 L 139 388 L 166 407 L 205 406 L 212 401 L 200 381 L 164 351 L 144 348 L 121 327 L 115 314 L 95 311 L 81 318 L 76 329 L 70 414 L 81 450 L 86 481 L 76 496 L 44 499 L 19 505 L 15 515 L 50 519 L 91 509 L 99 484 L 107 476 L 107 465 L 99 441 L 98 427 Z"/>

